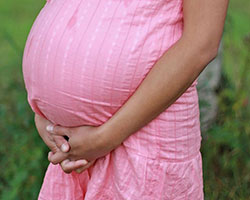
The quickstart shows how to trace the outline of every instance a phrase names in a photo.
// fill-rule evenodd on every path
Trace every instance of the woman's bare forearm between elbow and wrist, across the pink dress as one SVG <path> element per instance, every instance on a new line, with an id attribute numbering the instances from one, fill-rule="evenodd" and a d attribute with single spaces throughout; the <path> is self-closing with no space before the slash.
<path id="1" fill-rule="evenodd" d="M 166 110 L 214 58 L 193 41 L 181 38 L 156 62 L 128 101 L 104 125 L 105 137 L 117 146 Z"/>

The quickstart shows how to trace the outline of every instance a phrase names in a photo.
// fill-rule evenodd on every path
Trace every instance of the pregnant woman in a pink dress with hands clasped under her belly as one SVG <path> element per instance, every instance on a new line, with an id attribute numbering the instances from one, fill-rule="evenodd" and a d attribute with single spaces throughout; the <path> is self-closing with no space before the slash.
<path id="1" fill-rule="evenodd" d="M 204 198 L 196 84 L 217 55 L 227 6 L 47 1 L 23 56 L 51 149 L 39 199 Z"/>

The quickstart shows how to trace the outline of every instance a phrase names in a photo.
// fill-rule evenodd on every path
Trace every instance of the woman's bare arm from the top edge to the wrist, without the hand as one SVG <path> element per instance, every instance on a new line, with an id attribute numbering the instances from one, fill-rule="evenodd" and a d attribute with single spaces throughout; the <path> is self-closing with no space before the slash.
<path id="1" fill-rule="evenodd" d="M 217 55 L 227 7 L 228 0 L 184 0 L 181 39 L 163 54 L 130 99 L 102 126 L 103 140 L 118 146 L 186 91 Z"/>

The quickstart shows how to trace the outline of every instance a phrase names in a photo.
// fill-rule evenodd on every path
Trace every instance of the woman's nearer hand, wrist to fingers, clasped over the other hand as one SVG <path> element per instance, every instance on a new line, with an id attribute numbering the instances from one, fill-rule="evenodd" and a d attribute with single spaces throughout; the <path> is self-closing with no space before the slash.
<path id="1" fill-rule="evenodd" d="M 68 152 L 49 153 L 48 159 L 53 164 L 61 163 L 62 169 L 66 173 L 75 170 L 71 161 L 80 159 L 88 160 L 89 163 L 76 170 L 78 173 L 92 165 L 97 158 L 105 156 L 115 147 L 112 141 L 105 138 L 105 132 L 101 126 L 81 126 L 76 128 L 66 128 L 54 126 L 50 130 L 55 136 L 67 136 L 70 145 Z"/>

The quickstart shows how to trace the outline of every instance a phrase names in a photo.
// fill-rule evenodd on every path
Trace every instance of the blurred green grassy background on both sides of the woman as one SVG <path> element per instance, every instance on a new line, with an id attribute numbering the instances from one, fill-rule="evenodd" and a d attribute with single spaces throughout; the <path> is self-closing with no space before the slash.
<path id="1" fill-rule="evenodd" d="M 0 199 L 36 199 L 48 149 L 22 78 L 29 30 L 45 0 L 0 1 Z M 223 36 L 219 113 L 203 134 L 205 199 L 250 199 L 250 1 L 231 1 Z M 202 106 L 202 104 L 200 105 Z"/>

